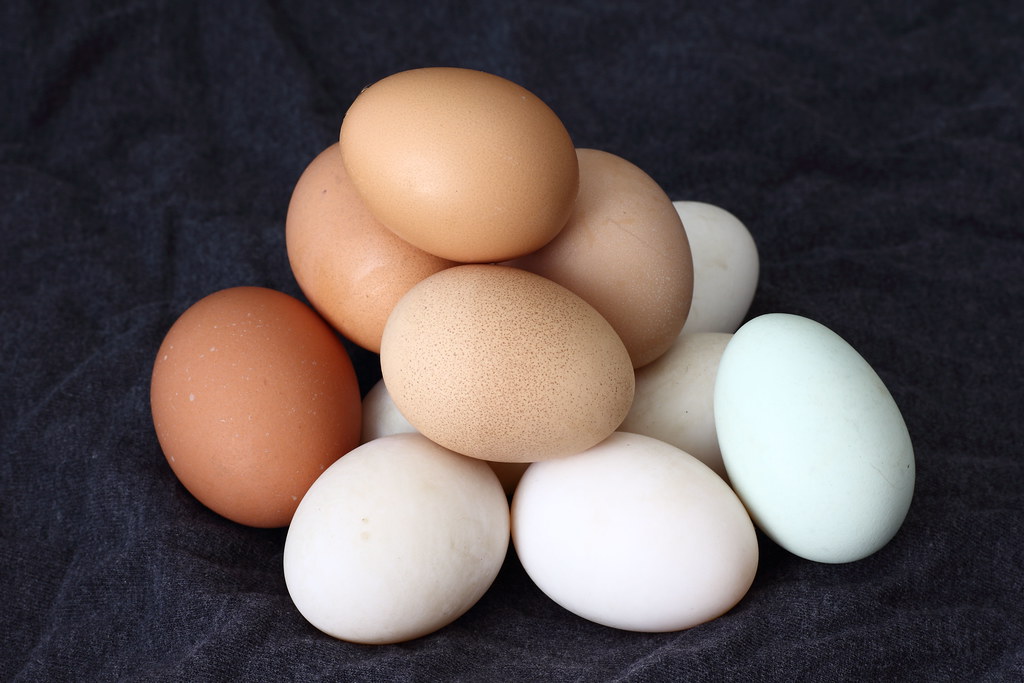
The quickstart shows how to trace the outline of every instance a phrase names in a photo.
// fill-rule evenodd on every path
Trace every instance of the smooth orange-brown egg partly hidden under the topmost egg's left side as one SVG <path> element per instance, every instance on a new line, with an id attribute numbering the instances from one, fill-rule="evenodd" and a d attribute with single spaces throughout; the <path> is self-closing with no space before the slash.
<path id="1" fill-rule="evenodd" d="M 309 303 L 341 334 L 375 353 L 401 295 L 454 265 L 373 217 L 345 172 L 337 142 L 299 177 L 285 236 L 292 272 Z"/>

